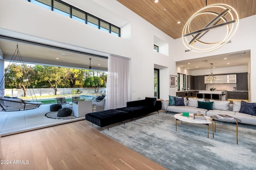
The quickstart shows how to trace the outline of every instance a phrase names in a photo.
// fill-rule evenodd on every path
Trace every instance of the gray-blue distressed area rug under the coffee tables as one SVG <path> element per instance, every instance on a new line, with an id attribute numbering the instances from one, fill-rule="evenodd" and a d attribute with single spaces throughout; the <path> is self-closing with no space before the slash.
<path id="1" fill-rule="evenodd" d="M 169 170 L 255 170 L 256 126 L 216 122 L 207 125 L 178 121 L 159 113 L 102 131 L 124 146 Z"/>

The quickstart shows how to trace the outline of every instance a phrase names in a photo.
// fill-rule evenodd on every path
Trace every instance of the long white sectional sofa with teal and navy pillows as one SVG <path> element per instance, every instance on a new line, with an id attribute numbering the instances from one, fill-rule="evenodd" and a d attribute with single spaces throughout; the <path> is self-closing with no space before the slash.
<path id="1" fill-rule="evenodd" d="M 197 108 L 198 104 L 197 101 L 204 102 L 204 99 L 195 99 L 195 98 L 184 98 L 184 105 L 185 106 L 169 106 L 169 100 L 162 101 L 162 110 L 166 110 L 167 112 L 175 112 L 175 113 L 182 113 L 182 112 L 189 112 L 189 113 L 196 113 L 200 111 L 202 114 L 206 116 L 211 115 L 230 115 L 232 117 L 241 119 L 241 123 L 246 123 L 250 125 L 256 125 L 256 116 L 250 115 L 246 113 L 240 113 L 241 102 L 233 101 L 233 104 L 230 104 L 230 101 L 220 101 L 220 100 L 210 100 L 213 102 L 213 110 L 208 109 L 201 109 Z M 254 103 L 255 104 L 255 103 Z"/>

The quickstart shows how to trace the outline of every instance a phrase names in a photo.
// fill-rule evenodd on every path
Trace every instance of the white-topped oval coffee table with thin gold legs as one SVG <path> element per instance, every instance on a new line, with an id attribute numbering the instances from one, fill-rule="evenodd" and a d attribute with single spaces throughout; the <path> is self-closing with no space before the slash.
<path id="1" fill-rule="evenodd" d="M 175 114 L 174 117 L 176 119 L 176 131 L 177 131 L 177 120 L 180 120 L 181 124 L 182 124 L 182 121 L 185 121 L 188 123 L 204 124 L 204 125 L 208 125 L 208 136 L 207 137 L 209 138 L 209 124 L 212 124 L 212 137 L 214 138 L 214 131 L 213 131 L 214 127 L 213 127 L 212 118 L 205 116 L 207 121 L 199 121 L 199 120 L 195 120 L 194 114 L 191 114 L 191 113 L 189 114 L 189 117 L 182 116 L 182 113 Z"/>

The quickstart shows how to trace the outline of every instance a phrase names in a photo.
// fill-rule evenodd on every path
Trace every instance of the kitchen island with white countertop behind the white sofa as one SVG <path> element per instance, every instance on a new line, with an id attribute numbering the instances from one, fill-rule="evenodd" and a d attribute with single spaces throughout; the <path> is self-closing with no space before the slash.
<path id="1" fill-rule="evenodd" d="M 197 98 L 204 98 L 204 99 L 212 99 L 212 100 L 226 100 L 226 91 L 224 90 L 214 90 L 214 91 L 207 91 L 202 90 L 196 94 Z"/>

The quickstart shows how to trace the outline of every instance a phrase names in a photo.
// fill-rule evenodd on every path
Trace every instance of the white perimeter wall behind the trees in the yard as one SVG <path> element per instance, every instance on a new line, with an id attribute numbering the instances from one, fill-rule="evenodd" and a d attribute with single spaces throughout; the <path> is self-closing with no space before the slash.
<path id="1" fill-rule="evenodd" d="M 81 94 L 94 93 L 93 88 L 58 88 L 57 95 L 72 94 L 72 89 L 80 90 Z M 100 91 L 106 90 L 106 88 L 100 88 Z M 19 88 L 4 89 L 4 95 L 10 97 L 24 97 L 24 91 Z M 52 96 L 55 95 L 53 88 L 30 88 L 26 91 L 26 96 Z"/>

